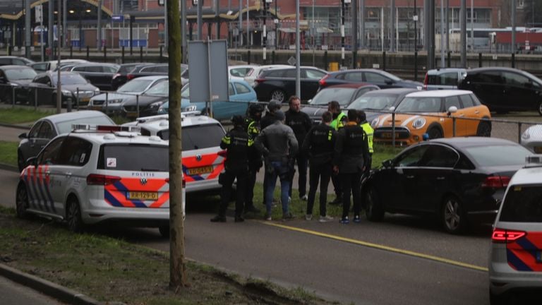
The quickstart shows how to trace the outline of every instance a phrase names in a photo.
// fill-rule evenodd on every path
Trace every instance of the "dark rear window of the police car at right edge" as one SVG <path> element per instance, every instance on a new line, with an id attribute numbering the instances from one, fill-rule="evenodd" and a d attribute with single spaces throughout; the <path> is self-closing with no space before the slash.
<path id="1" fill-rule="evenodd" d="M 510 186 L 502 203 L 502 222 L 542 222 L 542 186 Z"/>

